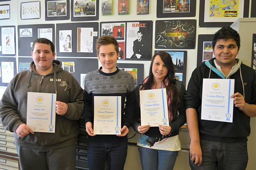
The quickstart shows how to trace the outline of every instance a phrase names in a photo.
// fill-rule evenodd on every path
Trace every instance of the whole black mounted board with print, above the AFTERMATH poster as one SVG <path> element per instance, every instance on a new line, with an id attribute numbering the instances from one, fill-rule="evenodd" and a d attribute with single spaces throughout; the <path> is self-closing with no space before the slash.
<path id="1" fill-rule="evenodd" d="M 157 18 L 194 17 L 196 0 L 157 0 Z"/>

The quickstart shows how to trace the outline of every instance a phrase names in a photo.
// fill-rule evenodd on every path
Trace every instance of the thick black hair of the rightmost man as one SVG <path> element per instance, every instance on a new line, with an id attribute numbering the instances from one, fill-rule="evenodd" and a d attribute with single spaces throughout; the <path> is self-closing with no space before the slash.
<path id="1" fill-rule="evenodd" d="M 231 28 L 229 26 L 222 27 L 220 30 L 218 30 L 214 34 L 214 37 L 213 37 L 213 40 L 212 40 L 213 49 L 216 45 L 216 42 L 219 39 L 225 39 L 225 41 L 228 40 L 228 39 L 234 39 L 236 41 L 236 45 L 238 47 L 238 50 L 240 49 L 240 35 L 236 30 L 234 30 L 233 28 Z"/>

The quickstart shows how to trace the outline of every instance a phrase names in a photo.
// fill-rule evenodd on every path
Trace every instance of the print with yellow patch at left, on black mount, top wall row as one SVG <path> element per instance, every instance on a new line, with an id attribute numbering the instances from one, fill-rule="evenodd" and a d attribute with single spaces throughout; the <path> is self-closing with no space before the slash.
<path id="1" fill-rule="evenodd" d="M 74 0 L 74 17 L 96 16 L 96 0 Z"/>

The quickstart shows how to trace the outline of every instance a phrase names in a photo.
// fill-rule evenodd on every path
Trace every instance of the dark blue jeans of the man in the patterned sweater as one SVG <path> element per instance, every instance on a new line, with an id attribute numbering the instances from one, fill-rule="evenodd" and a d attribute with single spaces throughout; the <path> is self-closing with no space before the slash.
<path id="1" fill-rule="evenodd" d="M 127 155 L 127 141 L 123 143 L 88 142 L 90 170 L 105 170 L 108 158 L 109 170 L 123 170 Z"/>

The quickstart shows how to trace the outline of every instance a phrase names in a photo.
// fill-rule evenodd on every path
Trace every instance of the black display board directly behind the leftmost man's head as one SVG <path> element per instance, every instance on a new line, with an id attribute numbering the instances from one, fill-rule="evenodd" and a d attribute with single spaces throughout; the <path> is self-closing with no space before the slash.
<path id="1" fill-rule="evenodd" d="M 32 43 L 38 38 L 38 29 L 52 29 L 52 42 L 55 44 L 55 27 L 54 24 L 38 24 L 38 25 L 18 25 L 18 55 L 31 56 Z M 21 30 L 20 30 L 21 29 Z M 31 35 L 32 29 L 32 35 Z M 30 33 L 21 35 L 20 31 Z M 22 36 L 22 37 L 21 37 Z"/>

